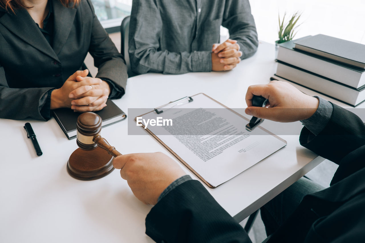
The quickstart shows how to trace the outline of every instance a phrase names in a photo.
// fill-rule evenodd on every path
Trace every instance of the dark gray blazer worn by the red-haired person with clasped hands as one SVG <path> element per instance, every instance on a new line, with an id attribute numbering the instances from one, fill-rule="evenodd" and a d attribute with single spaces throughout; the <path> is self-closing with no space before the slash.
<path id="1" fill-rule="evenodd" d="M 53 47 L 26 9 L 13 14 L 0 8 L 1 118 L 44 120 L 40 100 L 80 70 L 88 52 L 99 68 L 96 77 L 110 80 L 122 90 L 126 87 L 123 56 L 96 18 L 91 1 L 81 0 L 77 8 L 50 1 L 54 10 Z"/>

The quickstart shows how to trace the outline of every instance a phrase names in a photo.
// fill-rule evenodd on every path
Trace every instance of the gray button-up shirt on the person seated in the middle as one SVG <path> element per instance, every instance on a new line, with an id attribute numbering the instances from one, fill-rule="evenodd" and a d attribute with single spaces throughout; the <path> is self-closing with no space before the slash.
<path id="1" fill-rule="evenodd" d="M 258 46 L 248 0 L 133 0 L 129 56 L 133 72 L 210 72 L 220 26 L 237 40 L 242 59 Z"/>

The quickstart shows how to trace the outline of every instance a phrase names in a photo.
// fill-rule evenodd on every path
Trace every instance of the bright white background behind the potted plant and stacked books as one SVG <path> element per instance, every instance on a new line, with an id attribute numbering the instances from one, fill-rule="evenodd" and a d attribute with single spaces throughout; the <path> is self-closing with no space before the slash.
<path id="1" fill-rule="evenodd" d="M 258 38 L 274 43 L 278 13 L 302 12 L 296 38 L 325 34 L 365 44 L 365 0 L 250 0 Z"/>

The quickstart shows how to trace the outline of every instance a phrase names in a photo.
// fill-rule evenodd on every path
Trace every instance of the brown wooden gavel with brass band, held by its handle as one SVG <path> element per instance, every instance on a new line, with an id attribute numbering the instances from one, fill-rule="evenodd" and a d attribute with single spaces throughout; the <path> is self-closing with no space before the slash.
<path id="1" fill-rule="evenodd" d="M 77 146 L 82 150 L 93 150 L 100 147 L 108 151 L 108 154 L 117 157 L 122 155 L 115 147 L 110 146 L 105 138 L 100 136 L 101 117 L 93 112 L 82 113 L 77 118 Z"/>

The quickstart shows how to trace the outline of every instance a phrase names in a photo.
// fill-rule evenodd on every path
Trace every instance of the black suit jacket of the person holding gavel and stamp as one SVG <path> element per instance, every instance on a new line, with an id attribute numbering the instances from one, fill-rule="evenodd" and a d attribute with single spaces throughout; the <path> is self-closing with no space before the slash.
<path id="1" fill-rule="evenodd" d="M 333 107 L 320 134 L 303 128 L 300 135 L 304 147 L 339 164 L 331 186 L 305 196 L 269 242 L 364 242 L 365 126 L 353 113 Z M 156 242 L 251 242 L 195 180 L 177 186 L 151 209 L 146 234 Z"/>

